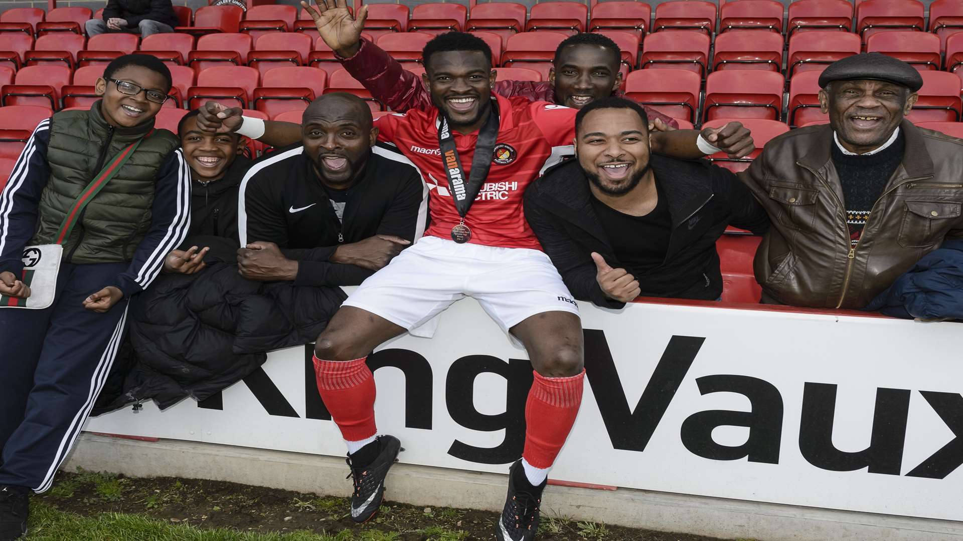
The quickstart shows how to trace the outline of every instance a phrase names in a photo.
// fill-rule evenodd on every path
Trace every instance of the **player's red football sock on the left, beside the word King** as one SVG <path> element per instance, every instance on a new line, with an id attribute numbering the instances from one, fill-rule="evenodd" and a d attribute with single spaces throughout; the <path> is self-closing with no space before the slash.
<path id="1" fill-rule="evenodd" d="M 323 361 L 314 357 L 318 392 L 341 436 L 350 442 L 374 437 L 375 377 L 361 357 L 353 361 Z"/>

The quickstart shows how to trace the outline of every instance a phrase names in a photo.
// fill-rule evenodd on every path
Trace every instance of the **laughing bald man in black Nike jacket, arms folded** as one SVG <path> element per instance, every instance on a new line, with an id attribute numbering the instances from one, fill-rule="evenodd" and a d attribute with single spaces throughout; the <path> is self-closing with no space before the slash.
<path id="1" fill-rule="evenodd" d="M 428 190 L 415 167 L 376 146 L 371 110 L 357 96 L 316 99 L 301 134 L 255 163 L 241 184 L 240 272 L 358 285 L 421 237 Z"/>

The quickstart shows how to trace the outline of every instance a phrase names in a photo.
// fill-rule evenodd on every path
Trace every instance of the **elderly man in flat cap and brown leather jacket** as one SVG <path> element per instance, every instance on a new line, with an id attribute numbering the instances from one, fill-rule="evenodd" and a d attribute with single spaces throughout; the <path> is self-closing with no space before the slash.
<path id="1" fill-rule="evenodd" d="M 911 65 L 879 53 L 830 64 L 829 124 L 772 140 L 741 173 L 772 220 L 755 259 L 763 302 L 863 308 L 963 238 L 963 140 L 904 118 L 922 86 Z"/>

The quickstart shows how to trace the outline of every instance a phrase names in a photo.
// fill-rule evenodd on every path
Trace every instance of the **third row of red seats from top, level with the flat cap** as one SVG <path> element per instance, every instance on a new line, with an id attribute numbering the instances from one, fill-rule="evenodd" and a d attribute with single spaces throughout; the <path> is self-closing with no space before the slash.
<path id="1" fill-rule="evenodd" d="M 65 65 L 30 65 L 14 73 L 0 66 L 0 105 L 39 105 L 53 110 L 89 107 L 97 99 L 93 85 L 103 74 L 103 67 L 87 65 L 72 71 Z M 424 73 L 417 64 L 406 67 L 415 74 Z M 372 111 L 387 111 L 340 67 L 330 75 L 324 69 L 292 65 L 272 67 L 263 73 L 230 63 L 205 67 L 199 73 L 184 65 L 169 68 L 173 88 L 166 107 L 194 109 L 206 100 L 216 100 L 274 118 L 286 111 L 302 111 L 323 93 L 346 91 L 368 101 Z M 782 74 L 773 71 L 720 70 L 710 73 L 703 83 L 695 71 L 638 69 L 629 73 L 624 89 L 629 97 L 679 119 L 687 127 L 716 118 L 761 118 L 798 126 L 826 120 L 819 107 L 820 73 L 818 69 L 799 71 L 790 78 L 787 92 Z M 959 76 L 945 71 L 923 71 L 921 76 L 924 85 L 909 119 L 959 121 L 963 115 Z M 539 81 L 542 75 L 525 67 L 501 67 L 498 78 Z"/>

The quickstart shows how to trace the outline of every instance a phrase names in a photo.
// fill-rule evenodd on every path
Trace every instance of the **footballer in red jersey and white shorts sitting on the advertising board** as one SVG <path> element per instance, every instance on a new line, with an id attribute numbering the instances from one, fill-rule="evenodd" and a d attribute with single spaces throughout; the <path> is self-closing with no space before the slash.
<path id="1" fill-rule="evenodd" d="M 503 541 L 533 539 L 548 470 L 582 402 L 585 370 L 578 305 L 525 221 L 522 195 L 545 167 L 572 153 L 576 111 L 493 96 L 491 51 L 470 34 L 432 39 L 423 58 L 437 107 L 382 116 L 375 126 L 379 142 L 420 169 L 431 224 L 365 280 L 318 337 L 318 388 L 348 445 L 351 515 L 366 520 L 400 448 L 397 438 L 377 435 L 366 356 L 405 331 L 432 336 L 441 312 L 473 296 L 534 367 L 525 448 L 511 466 L 496 527 Z"/>

